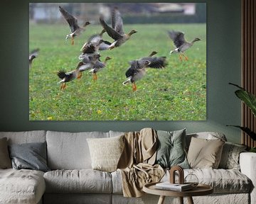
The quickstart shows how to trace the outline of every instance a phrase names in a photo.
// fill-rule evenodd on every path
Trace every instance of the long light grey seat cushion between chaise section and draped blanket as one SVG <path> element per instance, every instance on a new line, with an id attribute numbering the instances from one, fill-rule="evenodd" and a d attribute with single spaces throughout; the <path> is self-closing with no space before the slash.
<path id="1" fill-rule="evenodd" d="M 48 171 L 47 193 L 111 193 L 111 174 L 93 169 Z"/>

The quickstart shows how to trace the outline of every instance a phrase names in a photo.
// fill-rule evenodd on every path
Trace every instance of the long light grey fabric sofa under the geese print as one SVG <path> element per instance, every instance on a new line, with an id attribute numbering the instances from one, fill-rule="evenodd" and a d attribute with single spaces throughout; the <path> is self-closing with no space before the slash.
<path id="1" fill-rule="evenodd" d="M 0 132 L 0 139 L 7 138 L 9 146 L 45 142 L 48 166 L 46 172 L 32 169 L 0 169 L 0 203 L 157 203 L 159 196 L 146 193 L 139 198 L 124 197 L 119 171 L 92 169 L 87 139 L 111 138 L 122 134 L 124 132 L 115 131 Z M 187 151 L 192 137 L 204 140 L 221 137 L 226 140 L 225 135 L 218 132 L 186 134 Z M 221 157 L 227 157 L 227 154 L 229 153 L 226 152 Z M 237 169 L 184 169 L 185 176 L 195 174 L 199 183 L 206 183 L 214 189 L 214 193 L 208 196 L 193 197 L 194 203 L 256 203 L 256 154 L 241 150 L 238 156 Z M 169 171 L 165 171 L 161 181 L 169 181 Z M 178 199 L 168 197 L 165 202 L 178 203 Z M 184 203 L 186 202 L 184 199 Z"/>

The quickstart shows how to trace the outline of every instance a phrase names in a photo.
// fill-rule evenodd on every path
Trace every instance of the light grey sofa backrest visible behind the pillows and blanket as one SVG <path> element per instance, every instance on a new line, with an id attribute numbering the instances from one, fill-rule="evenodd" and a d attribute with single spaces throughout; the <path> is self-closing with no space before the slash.
<path id="1" fill-rule="evenodd" d="M 105 138 L 122 135 L 124 132 L 56 132 L 31 130 L 24 132 L 0 132 L 0 138 L 7 137 L 9 145 L 28 142 L 47 142 L 48 166 L 50 169 L 91 169 L 90 149 L 87 138 Z M 191 137 L 208 140 L 226 140 L 219 132 L 196 132 L 186 135 L 186 149 Z"/>

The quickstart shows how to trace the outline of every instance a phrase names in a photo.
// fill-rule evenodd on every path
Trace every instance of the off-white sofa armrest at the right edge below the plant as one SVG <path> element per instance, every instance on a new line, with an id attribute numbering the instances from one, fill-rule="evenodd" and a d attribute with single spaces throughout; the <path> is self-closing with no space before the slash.
<path id="1" fill-rule="evenodd" d="M 252 192 L 250 193 L 251 202 L 256 203 L 256 153 L 242 152 L 240 153 L 240 169 L 252 181 Z"/>

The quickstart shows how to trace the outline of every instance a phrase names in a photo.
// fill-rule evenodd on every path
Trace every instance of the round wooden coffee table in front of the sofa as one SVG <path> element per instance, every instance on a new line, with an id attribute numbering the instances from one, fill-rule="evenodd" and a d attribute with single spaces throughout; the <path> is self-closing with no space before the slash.
<path id="1" fill-rule="evenodd" d="M 146 183 L 143 186 L 143 191 L 160 196 L 158 204 L 163 204 L 166 196 L 178 197 L 181 204 L 183 204 L 183 197 L 187 197 L 188 203 L 193 204 L 192 196 L 206 196 L 213 193 L 213 188 L 205 184 L 198 184 L 189 191 L 169 191 L 156 188 L 156 183 Z"/>

